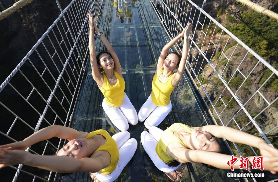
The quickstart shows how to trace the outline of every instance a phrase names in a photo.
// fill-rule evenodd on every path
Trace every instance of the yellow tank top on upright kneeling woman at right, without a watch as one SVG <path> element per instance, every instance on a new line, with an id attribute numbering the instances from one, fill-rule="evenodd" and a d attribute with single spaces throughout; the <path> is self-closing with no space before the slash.
<path id="1" fill-rule="evenodd" d="M 159 76 L 162 74 L 163 69 L 153 76 L 153 81 L 151 83 L 152 91 L 151 91 L 151 100 L 153 104 L 157 106 L 166 106 L 170 103 L 170 95 L 175 87 L 172 86 L 172 73 L 167 82 L 161 83 L 159 81 Z"/>

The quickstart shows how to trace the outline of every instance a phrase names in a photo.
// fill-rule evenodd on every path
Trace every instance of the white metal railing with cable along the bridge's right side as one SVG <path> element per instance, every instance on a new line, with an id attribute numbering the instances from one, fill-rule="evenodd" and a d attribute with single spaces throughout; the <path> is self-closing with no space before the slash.
<path id="1" fill-rule="evenodd" d="M 278 93 L 274 80 L 278 71 L 192 1 L 151 2 L 172 38 L 187 22 L 193 23 L 195 29 L 190 37 L 186 69 L 215 122 L 250 134 L 259 132 L 271 144 L 270 135 L 277 134 L 278 126 L 267 118 L 267 112 L 277 113 Z M 181 50 L 182 42 L 177 47 Z M 261 79 L 258 79 L 260 74 Z M 248 150 L 251 155 L 258 154 L 249 147 L 235 143 L 231 146 L 232 151 L 240 155 L 247 154 Z"/>

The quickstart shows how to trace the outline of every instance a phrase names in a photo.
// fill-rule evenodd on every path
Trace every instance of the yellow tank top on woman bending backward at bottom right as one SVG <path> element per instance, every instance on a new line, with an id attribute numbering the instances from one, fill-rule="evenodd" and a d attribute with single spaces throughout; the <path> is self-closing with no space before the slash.
<path id="1" fill-rule="evenodd" d="M 178 128 L 183 128 L 183 129 L 185 129 L 186 132 L 188 132 L 190 134 L 192 133 L 192 130 L 188 125 L 185 125 L 182 123 L 174 123 L 169 128 L 167 128 L 166 130 L 163 131 L 161 138 L 156 145 L 155 150 L 156 150 L 158 157 L 166 164 L 168 162 L 175 160 L 174 158 L 170 157 L 166 153 L 166 150 L 167 150 L 167 147 L 169 144 L 178 142 L 178 143 L 184 145 L 185 147 L 189 148 L 182 142 L 182 140 L 180 138 L 178 138 L 177 136 L 175 136 L 173 134 L 175 131 L 177 131 Z"/>

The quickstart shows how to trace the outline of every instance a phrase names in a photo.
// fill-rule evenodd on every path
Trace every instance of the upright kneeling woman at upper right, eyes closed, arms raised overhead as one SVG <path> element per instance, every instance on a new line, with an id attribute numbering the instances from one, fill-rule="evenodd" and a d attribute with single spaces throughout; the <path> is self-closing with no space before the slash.
<path id="1" fill-rule="evenodd" d="M 182 78 L 188 52 L 188 36 L 191 28 L 192 24 L 188 23 L 182 33 L 166 44 L 160 53 L 156 72 L 151 83 L 151 95 L 138 113 L 139 121 L 143 122 L 146 120 L 146 128 L 158 126 L 172 109 L 170 95 Z M 182 37 L 184 37 L 182 56 L 180 57 L 177 52 L 167 54 L 167 51 Z M 177 72 L 173 73 L 177 66 Z"/>

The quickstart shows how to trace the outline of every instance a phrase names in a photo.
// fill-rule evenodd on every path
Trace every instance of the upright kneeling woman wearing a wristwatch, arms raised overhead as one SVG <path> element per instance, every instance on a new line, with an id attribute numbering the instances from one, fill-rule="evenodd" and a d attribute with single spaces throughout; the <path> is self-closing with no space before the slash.
<path id="1" fill-rule="evenodd" d="M 104 95 L 102 107 L 111 122 L 121 131 L 129 128 L 128 123 L 136 125 L 138 117 L 135 108 L 125 94 L 125 80 L 119 58 L 106 37 L 99 31 L 89 13 L 90 37 L 89 49 L 93 79 Z M 109 52 L 101 51 L 96 55 L 94 30 Z M 98 67 L 104 71 L 100 72 Z"/>

